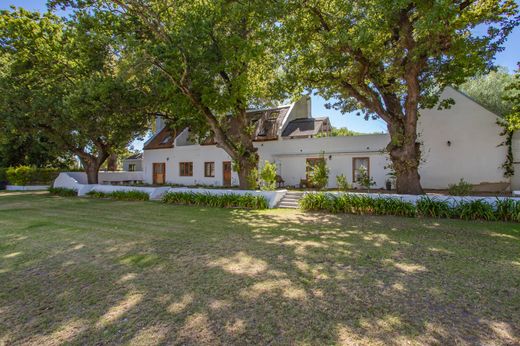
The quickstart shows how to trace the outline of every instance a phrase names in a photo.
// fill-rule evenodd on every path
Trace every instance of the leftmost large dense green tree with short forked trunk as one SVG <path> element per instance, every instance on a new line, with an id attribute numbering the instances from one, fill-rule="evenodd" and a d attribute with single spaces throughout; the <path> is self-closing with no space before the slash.
<path id="1" fill-rule="evenodd" d="M 0 12 L 0 112 L 77 155 L 88 177 L 146 130 L 150 91 L 132 56 L 87 13 L 70 20 L 24 9 Z"/>

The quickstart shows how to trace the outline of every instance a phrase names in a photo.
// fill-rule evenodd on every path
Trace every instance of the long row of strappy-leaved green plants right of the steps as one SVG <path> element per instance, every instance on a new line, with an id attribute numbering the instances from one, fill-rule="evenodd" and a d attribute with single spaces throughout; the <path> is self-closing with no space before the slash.
<path id="1" fill-rule="evenodd" d="M 497 199 L 494 204 L 484 200 L 474 200 L 450 205 L 446 201 L 422 197 L 414 204 L 397 198 L 309 193 L 300 200 L 300 207 L 306 211 L 331 213 L 520 222 L 520 201 L 512 199 Z"/>

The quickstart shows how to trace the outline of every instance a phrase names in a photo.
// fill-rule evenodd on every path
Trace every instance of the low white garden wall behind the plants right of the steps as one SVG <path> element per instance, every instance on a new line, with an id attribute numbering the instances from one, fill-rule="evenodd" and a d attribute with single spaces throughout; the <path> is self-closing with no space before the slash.
<path id="1" fill-rule="evenodd" d="M 316 192 L 308 192 L 308 193 L 316 193 Z M 513 199 L 513 200 L 520 200 L 520 197 L 488 197 L 488 196 L 444 196 L 444 195 L 435 195 L 435 194 L 426 194 L 426 195 L 398 195 L 398 194 L 385 194 L 385 193 L 364 193 L 364 192 L 332 192 L 328 191 L 327 193 L 331 195 L 341 195 L 341 194 L 348 194 L 348 195 L 365 195 L 371 198 L 393 198 L 393 199 L 400 199 L 405 202 L 410 203 L 417 203 L 418 200 L 421 198 L 428 197 L 435 201 L 445 201 L 448 202 L 451 206 L 454 206 L 462 201 L 465 202 L 471 202 L 471 201 L 483 201 L 486 203 L 489 203 L 491 205 L 494 205 L 497 200 L 504 200 L 504 199 Z"/>

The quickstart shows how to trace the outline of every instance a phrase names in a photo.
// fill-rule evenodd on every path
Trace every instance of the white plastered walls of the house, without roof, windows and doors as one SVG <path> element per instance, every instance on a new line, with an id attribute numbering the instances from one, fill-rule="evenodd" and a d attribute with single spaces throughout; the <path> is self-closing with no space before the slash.
<path id="1" fill-rule="evenodd" d="M 496 123 L 496 115 L 451 88 L 445 90 L 443 98 L 453 98 L 456 104 L 447 110 L 421 111 L 418 132 L 423 152 L 422 186 L 444 189 L 461 178 L 475 185 L 508 185 L 510 180 L 504 178 L 501 168 L 507 149 L 499 146 L 504 138 L 500 136 L 502 129 Z M 308 99 L 291 106 L 279 133 L 291 120 L 302 117 L 311 117 Z M 222 165 L 224 161 L 230 161 L 230 157 L 215 145 L 188 145 L 182 136 L 181 133 L 173 148 L 144 151 L 144 181 L 153 183 L 153 163 L 164 162 L 167 183 L 223 185 Z M 515 157 L 520 157 L 520 136 L 515 139 Z M 384 153 L 389 141 L 387 134 L 302 139 L 279 136 L 278 140 L 255 142 L 255 146 L 260 167 L 265 160 L 275 162 L 286 186 L 298 186 L 306 178 L 307 159 L 317 158 L 323 152 L 330 169 L 328 187 L 337 186 L 336 176 L 340 174 L 352 183 L 353 159 L 369 158 L 369 174 L 376 182 L 375 187 L 382 188 L 389 178 L 389 170 L 385 167 L 390 161 Z M 180 176 L 180 162 L 193 163 L 193 176 Z M 214 177 L 204 176 L 205 162 L 214 162 Z M 512 183 L 512 188 L 520 187 L 520 179 L 513 178 Z M 232 185 L 237 184 L 238 176 L 233 172 Z"/>

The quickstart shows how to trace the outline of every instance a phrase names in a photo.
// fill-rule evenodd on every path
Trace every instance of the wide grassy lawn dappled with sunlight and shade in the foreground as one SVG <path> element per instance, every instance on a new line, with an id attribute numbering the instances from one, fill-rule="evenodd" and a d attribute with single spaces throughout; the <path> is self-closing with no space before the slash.
<path id="1" fill-rule="evenodd" d="M 0 193 L 0 345 L 519 344 L 520 225 Z"/>

